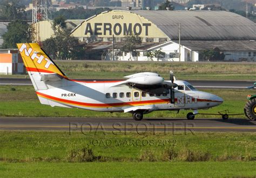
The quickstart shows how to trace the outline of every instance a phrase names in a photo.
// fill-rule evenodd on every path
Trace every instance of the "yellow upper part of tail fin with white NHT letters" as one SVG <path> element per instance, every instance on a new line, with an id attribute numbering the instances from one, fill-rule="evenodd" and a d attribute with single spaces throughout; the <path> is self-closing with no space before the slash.
<path id="1" fill-rule="evenodd" d="M 37 43 L 19 43 L 17 46 L 26 66 L 26 70 L 29 73 L 57 73 L 60 76 L 65 77 L 65 74 L 47 56 L 47 54 L 45 54 Z"/>

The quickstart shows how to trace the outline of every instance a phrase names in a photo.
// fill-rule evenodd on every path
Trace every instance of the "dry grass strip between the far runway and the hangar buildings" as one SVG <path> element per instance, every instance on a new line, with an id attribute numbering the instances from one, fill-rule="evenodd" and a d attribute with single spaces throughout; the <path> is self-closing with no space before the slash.
<path id="1" fill-rule="evenodd" d="M 255 80 L 256 64 L 246 63 L 143 63 L 134 61 L 56 61 L 59 68 L 71 78 L 122 79 L 138 72 L 156 72 L 169 79 L 172 70 L 182 80 Z M 0 77 L 25 78 L 25 75 Z"/>

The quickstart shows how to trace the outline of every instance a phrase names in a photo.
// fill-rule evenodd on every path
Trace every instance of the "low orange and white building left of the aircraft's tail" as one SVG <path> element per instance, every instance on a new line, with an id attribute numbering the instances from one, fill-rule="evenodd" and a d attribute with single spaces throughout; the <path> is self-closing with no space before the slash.
<path id="1" fill-rule="evenodd" d="M 18 49 L 0 50 L 0 74 L 22 74 L 26 69 Z"/>

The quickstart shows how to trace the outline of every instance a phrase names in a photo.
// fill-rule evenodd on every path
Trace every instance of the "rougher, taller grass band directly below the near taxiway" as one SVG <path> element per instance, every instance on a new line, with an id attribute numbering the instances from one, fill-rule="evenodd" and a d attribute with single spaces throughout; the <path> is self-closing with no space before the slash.
<path id="1" fill-rule="evenodd" d="M 98 143 L 91 144 L 97 140 Z M 103 141 L 111 140 L 108 145 Z M 117 142 L 139 140 L 137 144 L 119 145 Z M 152 144 L 142 141 L 147 140 Z M 159 141 L 170 140 L 161 144 Z M 173 141 L 175 140 L 175 141 Z M 66 162 L 69 151 L 74 148 L 91 148 L 100 162 L 145 161 L 144 151 L 152 153 L 155 161 L 168 161 L 165 150 L 173 149 L 179 156 L 173 161 L 185 161 L 188 150 L 194 154 L 210 154 L 209 161 L 254 160 L 256 159 L 256 133 L 196 132 L 165 135 L 147 132 L 113 134 L 112 132 L 60 132 L 60 131 L 0 131 L 0 160 L 3 162 Z M 102 143 L 99 143 L 102 141 Z M 184 157 L 185 156 L 185 157 Z M 144 157 L 145 158 L 145 157 Z M 97 162 L 97 160 L 95 160 Z M 193 161 L 193 160 L 192 160 Z M 196 160 L 194 160 L 196 161 Z M 188 161 L 190 162 L 190 161 Z"/>

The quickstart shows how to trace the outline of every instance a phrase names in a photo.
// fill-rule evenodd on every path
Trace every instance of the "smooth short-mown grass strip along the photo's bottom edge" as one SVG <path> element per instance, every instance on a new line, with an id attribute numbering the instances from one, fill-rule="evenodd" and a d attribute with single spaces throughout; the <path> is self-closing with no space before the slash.
<path id="1" fill-rule="evenodd" d="M 0 163 L 2 177 L 253 177 L 256 162 Z"/>

